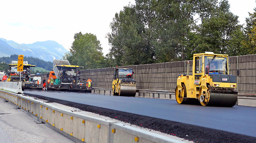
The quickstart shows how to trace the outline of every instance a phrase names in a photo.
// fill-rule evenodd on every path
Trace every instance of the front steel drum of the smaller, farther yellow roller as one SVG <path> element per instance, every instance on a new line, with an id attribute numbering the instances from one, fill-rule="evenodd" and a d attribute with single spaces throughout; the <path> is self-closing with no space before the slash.
<path id="1" fill-rule="evenodd" d="M 120 84 L 119 96 L 135 96 L 136 84 Z"/>

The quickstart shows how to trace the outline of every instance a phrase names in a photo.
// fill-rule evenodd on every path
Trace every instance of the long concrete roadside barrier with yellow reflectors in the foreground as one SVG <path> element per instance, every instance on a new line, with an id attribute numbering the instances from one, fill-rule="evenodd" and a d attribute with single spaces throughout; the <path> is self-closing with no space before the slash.
<path id="1" fill-rule="evenodd" d="M 9 101 L 50 127 L 77 142 L 86 143 L 182 143 L 155 133 L 124 124 L 62 110 L 23 95 L 0 91 Z"/>

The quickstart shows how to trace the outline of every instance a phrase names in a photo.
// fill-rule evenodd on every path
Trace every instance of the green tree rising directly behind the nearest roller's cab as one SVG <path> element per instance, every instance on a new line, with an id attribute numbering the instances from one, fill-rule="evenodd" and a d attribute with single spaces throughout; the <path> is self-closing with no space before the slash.
<path id="1" fill-rule="evenodd" d="M 187 59 L 191 59 L 194 53 L 205 51 L 231 56 L 244 54 L 243 27 L 238 24 L 238 16 L 231 13 L 229 7 L 227 0 L 220 1 L 196 31 L 189 33 Z"/>

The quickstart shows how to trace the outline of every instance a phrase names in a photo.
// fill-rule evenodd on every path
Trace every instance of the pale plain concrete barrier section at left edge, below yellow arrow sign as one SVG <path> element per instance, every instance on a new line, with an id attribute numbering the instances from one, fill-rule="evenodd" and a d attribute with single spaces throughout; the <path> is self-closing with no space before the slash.
<path id="1" fill-rule="evenodd" d="M 22 82 L 0 82 L 0 89 L 13 93 L 23 93 Z"/>

